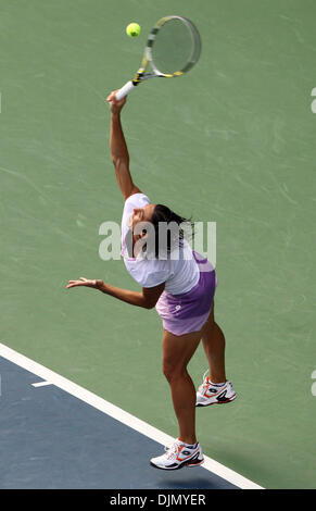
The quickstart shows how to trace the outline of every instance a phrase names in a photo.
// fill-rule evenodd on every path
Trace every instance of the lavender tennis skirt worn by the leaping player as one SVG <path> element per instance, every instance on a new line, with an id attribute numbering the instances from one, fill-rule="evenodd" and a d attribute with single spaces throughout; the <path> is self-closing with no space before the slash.
<path id="1" fill-rule="evenodd" d="M 197 286 L 182 295 L 163 291 L 155 306 L 164 329 L 175 335 L 199 332 L 202 328 L 210 315 L 217 287 L 212 264 L 198 252 L 192 253 L 200 269 Z"/>

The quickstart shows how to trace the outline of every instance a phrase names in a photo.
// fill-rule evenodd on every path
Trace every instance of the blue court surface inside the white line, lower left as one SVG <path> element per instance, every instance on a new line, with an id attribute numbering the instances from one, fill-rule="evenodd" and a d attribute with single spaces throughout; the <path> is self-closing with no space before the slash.
<path id="1" fill-rule="evenodd" d="M 0 352 L 8 357 L 3 345 Z M 1 488 L 238 488 L 203 466 L 168 473 L 151 468 L 160 443 L 5 357 L 0 357 Z"/>

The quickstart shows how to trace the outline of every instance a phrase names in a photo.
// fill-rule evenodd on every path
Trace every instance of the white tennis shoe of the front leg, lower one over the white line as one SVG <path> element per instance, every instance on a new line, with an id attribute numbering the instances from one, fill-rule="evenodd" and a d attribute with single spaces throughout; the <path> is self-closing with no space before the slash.
<path id="1" fill-rule="evenodd" d="M 152 458 L 150 464 L 161 470 L 178 470 L 184 466 L 201 465 L 204 461 L 203 452 L 199 443 L 188 446 L 177 439 L 163 456 Z"/>

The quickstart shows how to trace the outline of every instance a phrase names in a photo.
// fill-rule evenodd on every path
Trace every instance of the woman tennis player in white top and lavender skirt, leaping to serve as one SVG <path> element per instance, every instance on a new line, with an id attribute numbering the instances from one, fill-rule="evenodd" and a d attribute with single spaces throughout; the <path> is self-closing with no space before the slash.
<path id="1" fill-rule="evenodd" d="M 214 320 L 214 294 L 217 285 L 214 267 L 207 260 L 192 251 L 187 240 L 178 238 L 179 257 L 172 259 L 170 242 L 168 257 L 149 258 L 139 248 L 146 241 L 147 229 L 138 228 L 150 224 L 155 234 L 162 222 L 185 219 L 163 204 L 153 204 L 134 184 L 129 172 L 129 154 L 121 124 L 121 111 L 126 98 L 116 101 L 111 92 L 108 101 L 111 108 L 110 148 L 118 187 L 125 201 L 122 220 L 122 247 L 127 271 L 142 287 L 140 292 L 111 286 L 103 281 L 80 277 L 69 281 L 67 288 L 88 286 L 118 300 L 144 309 L 156 308 L 163 322 L 163 373 L 169 384 L 179 436 L 162 456 L 152 458 L 150 463 L 163 470 L 197 466 L 204 458 L 195 437 L 195 407 L 232 401 L 236 392 L 225 374 L 225 337 Z M 138 232 L 138 234 L 137 234 Z M 144 238 L 144 239 L 142 239 Z M 131 250 L 126 250 L 130 239 Z M 131 253 L 130 253 L 131 252 Z M 195 392 L 187 365 L 202 339 L 208 361 L 210 376 L 204 375 L 203 384 Z"/>

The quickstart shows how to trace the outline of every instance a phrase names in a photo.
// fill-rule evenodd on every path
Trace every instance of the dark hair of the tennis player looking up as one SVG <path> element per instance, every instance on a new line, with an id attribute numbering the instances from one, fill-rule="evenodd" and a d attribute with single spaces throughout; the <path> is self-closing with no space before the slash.
<path id="1" fill-rule="evenodd" d="M 185 216 L 178 215 L 177 213 L 172 211 L 167 205 L 156 204 L 155 208 L 154 208 L 154 211 L 153 211 L 153 214 L 152 214 L 152 217 L 151 217 L 150 222 L 154 226 L 154 234 L 155 234 L 154 247 L 155 247 L 155 257 L 156 258 L 162 256 L 162 253 L 160 251 L 160 248 L 161 248 L 160 247 L 160 224 L 161 223 L 169 224 L 169 223 L 174 222 L 178 226 L 180 226 L 181 224 L 187 224 L 187 225 L 190 226 L 190 230 L 193 235 L 193 223 L 192 223 L 191 219 L 189 220 L 189 219 L 186 219 Z M 164 257 L 166 257 L 167 254 L 170 253 L 173 248 L 182 246 L 184 238 L 185 238 L 184 228 L 177 229 L 177 235 L 174 236 L 174 237 L 172 237 L 172 232 L 167 230 L 167 246 L 166 246 L 166 252 L 167 253 L 163 254 L 163 259 L 164 259 Z"/>

